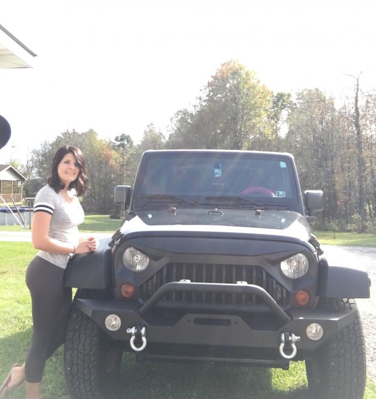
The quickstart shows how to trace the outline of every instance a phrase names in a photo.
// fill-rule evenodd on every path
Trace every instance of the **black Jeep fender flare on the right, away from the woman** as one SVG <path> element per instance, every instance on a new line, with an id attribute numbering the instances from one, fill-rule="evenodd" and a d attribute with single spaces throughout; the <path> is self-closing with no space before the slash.
<path id="1" fill-rule="evenodd" d="M 329 266 L 319 262 L 318 293 L 325 298 L 369 298 L 370 280 L 364 270 L 346 266 Z"/>

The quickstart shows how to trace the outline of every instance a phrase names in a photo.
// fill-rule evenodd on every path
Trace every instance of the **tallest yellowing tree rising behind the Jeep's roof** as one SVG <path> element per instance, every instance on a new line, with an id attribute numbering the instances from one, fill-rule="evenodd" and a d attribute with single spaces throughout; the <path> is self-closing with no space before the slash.
<path id="1" fill-rule="evenodd" d="M 254 71 L 239 62 L 225 62 L 202 90 L 192 111 L 172 120 L 169 148 L 268 150 L 277 128 L 273 93 Z M 273 114 L 274 112 L 274 114 Z"/>

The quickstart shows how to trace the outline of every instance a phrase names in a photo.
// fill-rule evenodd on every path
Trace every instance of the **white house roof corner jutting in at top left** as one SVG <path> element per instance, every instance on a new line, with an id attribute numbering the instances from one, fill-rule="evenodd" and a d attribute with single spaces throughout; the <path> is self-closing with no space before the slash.
<path id="1" fill-rule="evenodd" d="M 32 68 L 36 54 L 0 25 L 0 68 Z"/>

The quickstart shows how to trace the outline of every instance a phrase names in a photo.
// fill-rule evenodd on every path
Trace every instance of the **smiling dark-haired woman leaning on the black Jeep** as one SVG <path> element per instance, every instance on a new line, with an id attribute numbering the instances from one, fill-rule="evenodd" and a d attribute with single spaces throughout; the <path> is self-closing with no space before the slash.
<path id="1" fill-rule="evenodd" d="M 78 197 L 86 192 L 86 180 L 81 151 L 73 145 L 62 146 L 54 156 L 48 184 L 34 201 L 32 242 L 39 251 L 26 271 L 32 303 L 32 343 L 25 363 L 11 368 L 0 396 L 26 381 L 27 399 L 41 399 L 46 360 L 64 342 L 72 302 L 72 289 L 63 283 L 64 269 L 73 255 L 97 249 L 93 237 L 78 236 L 77 226 L 84 219 Z"/>

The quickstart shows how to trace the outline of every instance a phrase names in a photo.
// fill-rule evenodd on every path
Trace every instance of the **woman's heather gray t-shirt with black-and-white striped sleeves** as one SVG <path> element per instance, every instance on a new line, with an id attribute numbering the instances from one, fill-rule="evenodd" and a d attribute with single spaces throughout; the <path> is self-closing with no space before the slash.
<path id="1" fill-rule="evenodd" d="M 75 190 L 71 190 L 71 193 L 75 194 Z M 70 203 L 60 193 L 56 193 L 50 185 L 46 184 L 35 197 L 34 213 L 36 212 L 47 212 L 52 216 L 49 232 L 51 238 L 78 245 L 77 226 L 84 219 L 83 209 L 78 197 L 73 196 L 73 201 Z M 72 257 L 69 254 L 50 254 L 42 250 L 37 255 L 63 269 L 67 267 L 67 263 Z"/>

